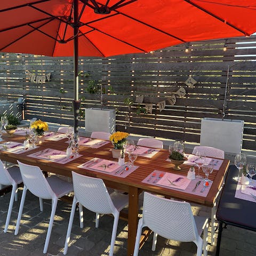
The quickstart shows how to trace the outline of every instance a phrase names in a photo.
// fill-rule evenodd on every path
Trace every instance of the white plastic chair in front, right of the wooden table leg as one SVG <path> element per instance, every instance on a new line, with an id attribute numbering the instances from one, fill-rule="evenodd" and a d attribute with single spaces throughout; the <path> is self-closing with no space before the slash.
<path id="1" fill-rule="evenodd" d="M 180 242 L 194 242 L 197 256 L 207 255 L 207 222 L 205 217 L 193 216 L 191 206 L 186 202 L 173 201 L 144 193 L 143 213 L 139 220 L 133 256 L 137 256 L 143 227 L 154 231 L 152 250 L 155 251 L 157 234 Z M 200 237 L 204 232 L 203 239 Z"/>

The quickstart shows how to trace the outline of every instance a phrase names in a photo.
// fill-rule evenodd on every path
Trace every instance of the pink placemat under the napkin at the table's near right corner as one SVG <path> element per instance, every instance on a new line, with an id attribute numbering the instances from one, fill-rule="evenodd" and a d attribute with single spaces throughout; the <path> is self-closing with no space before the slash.
<path id="1" fill-rule="evenodd" d="M 178 188 L 178 187 L 175 187 L 175 186 L 165 186 L 165 185 L 162 185 L 161 183 L 159 183 L 159 181 L 155 182 L 156 179 L 159 179 L 161 180 L 162 178 L 165 177 L 165 174 L 166 172 L 161 172 L 161 171 L 158 171 L 158 170 L 155 170 L 153 172 L 151 172 L 145 179 L 143 179 L 141 182 L 143 183 L 147 183 L 147 184 L 150 184 L 150 185 L 155 185 L 155 186 L 159 186 L 159 187 L 164 187 L 164 188 L 170 188 L 172 190 L 177 190 L 177 191 L 181 191 L 182 189 Z M 171 174 L 171 173 L 169 173 Z M 175 174 L 176 175 L 176 174 Z M 160 178 L 162 176 L 162 178 Z M 182 178 L 186 178 L 185 175 L 177 175 L 177 177 L 182 177 Z M 177 178 L 177 179 L 178 179 Z M 186 178 L 187 179 L 187 178 Z M 174 179 L 175 180 L 175 179 Z M 173 180 L 171 180 L 173 181 Z M 192 191 L 195 186 L 196 186 L 196 183 L 198 181 L 201 181 L 199 186 L 195 189 L 195 191 Z M 155 183 L 154 183 L 155 182 Z M 169 182 L 170 183 L 170 182 Z M 175 182 L 174 182 L 175 183 Z M 191 195 L 197 195 L 197 196 L 203 196 L 203 197 L 206 197 L 207 194 L 209 193 L 209 190 L 212 186 L 212 182 L 209 183 L 209 186 L 206 187 L 204 189 L 203 192 L 202 189 L 203 189 L 203 183 L 204 183 L 204 180 L 202 179 L 195 179 L 195 180 L 191 180 L 189 183 L 188 183 L 188 186 L 186 187 L 186 189 L 182 190 L 183 192 L 185 193 L 188 193 L 188 194 L 191 194 Z"/>

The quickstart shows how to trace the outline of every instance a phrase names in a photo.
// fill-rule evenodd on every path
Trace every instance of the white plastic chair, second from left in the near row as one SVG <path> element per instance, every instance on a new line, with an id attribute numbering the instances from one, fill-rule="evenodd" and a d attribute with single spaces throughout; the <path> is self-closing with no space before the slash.
<path id="1" fill-rule="evenodd" d="M 42 198 L 51 199 L 52 211 L 51 211 L 51 217 L 49 221 L 49 227 L 47 230 L 47 235 L 46 235 L 45 244 L 44 244 L 44 251 L 43 251 L 44 253 L 46 253 L 49 245 L 49 241 L 50 241 L 52 225 L 53 225 L 54 215 L 55 215 L 55 211 L 58 203 L 58 198 L 73 191 L 73 185 L 55 176 L 45 178 L 42 170 L 38 166 L 23 164 L 19 161 L 17 162 L 20 166 L 20 172 L 22 175 L 24 188 L 22 192 L 20 209 L 19 209 L 19 214 L 18 214 L 14 235 L 18 235 L 18 232 L 19 232 L 21 215 L 22 215 L 23 206 L 24 206 L 26 193 L 28 189 L 32 194 L 41 198 L 41 201 L 40 201 L 41 211 L 43 210 Z"/>

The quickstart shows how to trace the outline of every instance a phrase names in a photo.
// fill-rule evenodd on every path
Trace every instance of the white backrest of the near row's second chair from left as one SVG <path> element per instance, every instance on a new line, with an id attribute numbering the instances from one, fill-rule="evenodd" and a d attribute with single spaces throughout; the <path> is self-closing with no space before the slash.
<path id="1" fill-rule="evenodd" d="M 32 194 L 43 199 L 52 199 L 55 196 L 42 170 L 38 166 L 17 162 L 20 167 L 23 183 Z"/>

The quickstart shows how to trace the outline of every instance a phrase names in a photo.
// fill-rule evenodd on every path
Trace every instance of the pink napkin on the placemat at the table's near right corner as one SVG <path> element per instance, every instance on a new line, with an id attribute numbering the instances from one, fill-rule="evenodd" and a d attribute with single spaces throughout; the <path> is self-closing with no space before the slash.
<path id="1" fill-rule="evenodd" d="M 187 179 L 183 175 L 166 172 L 164 176 L 161 179 L 159 179 L 157 184 L 165 187 L 185 190 L 190 182 L 191 180 Z"/>

